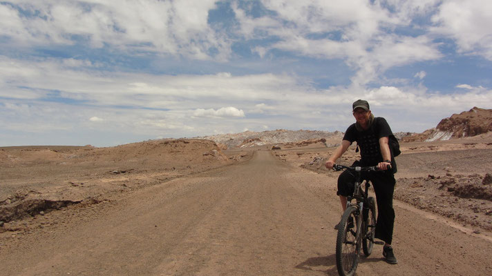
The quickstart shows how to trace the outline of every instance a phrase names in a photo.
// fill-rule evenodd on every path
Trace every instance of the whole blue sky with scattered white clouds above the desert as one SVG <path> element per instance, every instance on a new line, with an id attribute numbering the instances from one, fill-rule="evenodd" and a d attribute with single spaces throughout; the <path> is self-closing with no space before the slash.
<path id="1" fill-rule="evenodd" d="M 0 146 L 393 132 L 492 108 L 492 1 L 0 0 Z"/>

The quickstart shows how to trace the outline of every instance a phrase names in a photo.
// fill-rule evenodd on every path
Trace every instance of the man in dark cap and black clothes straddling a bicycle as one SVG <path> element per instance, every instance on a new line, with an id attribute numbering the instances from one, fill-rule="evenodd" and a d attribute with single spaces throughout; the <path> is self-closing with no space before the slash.
<path id="1" fill-rule="evenodd" d="M 361 159 L 355 161 L 352 166 L 377 166 L 381 170 L 363 174 L 363 178 L 372 182 L 376 194 L 378 216 L 375 237 L 385 242 L 383 255 L 386 262 L 397 264 L 391 247 L 395 223 L 392 199 L 396 184 L 394 176 L 396 163 L 388 146 L 389 137 L 392 135 L 391 128 L 386 119 L 372 115 L 367 101 L 361 99 L 355 101 L 352 104 L 352 112 L 356 122 L 347 128 L 341 145 L 326 161 L 325 166 L 332 168 L 335 161 L 348 150 L 352 142 L 357 141 L 357 150 L 359 148 L 361 150 Z M 391 168 L 388 169 L 388 166 Z M 354 177 L 350 172 L 344 171 L 339 176 L 337 190 L 343 210 L 347 207 L 348 195 L 352 195 L 353 192 Z"/>

